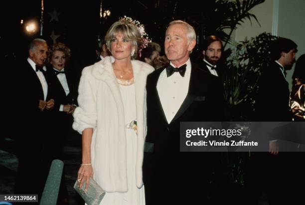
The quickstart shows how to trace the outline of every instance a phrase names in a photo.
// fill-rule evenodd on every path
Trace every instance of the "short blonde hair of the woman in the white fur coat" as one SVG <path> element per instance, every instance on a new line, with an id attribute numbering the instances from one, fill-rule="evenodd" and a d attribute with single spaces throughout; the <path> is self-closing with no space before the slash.
<path id="1" fill-rule="evenodd" d="M 105 41 L 108 49 L 111 52 L 111 40 L 115 37 L 118 32 L 122 32 L 123 37 L 133 41 L 133 45 L 136 47 L 132 59 L 138 56 L 139 47 L 142 44 L 142 37 L 138 27 L 131 21 L 126 19 L 120 19 L 110 26 L 108 29 Z"/>

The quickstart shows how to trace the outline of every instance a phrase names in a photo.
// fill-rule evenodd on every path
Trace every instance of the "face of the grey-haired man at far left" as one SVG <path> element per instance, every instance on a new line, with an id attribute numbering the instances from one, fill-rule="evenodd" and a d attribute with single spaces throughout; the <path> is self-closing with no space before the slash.
<path id="1" fill-rule="evenodd" d="M 29 58 L 36 65 L 43 66 L 47 58 L 48 45 L 44 42 L 36 42 L 35 46 L 29 50 Z"/>

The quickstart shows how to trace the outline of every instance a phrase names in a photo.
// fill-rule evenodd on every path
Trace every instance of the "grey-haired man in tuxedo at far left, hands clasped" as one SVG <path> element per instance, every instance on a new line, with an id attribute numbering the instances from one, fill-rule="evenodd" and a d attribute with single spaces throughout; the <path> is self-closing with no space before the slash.
<path id="1" fill-rule="evenodd" d="M 50 110 L 54 107 L 52 87 L 45 73 L 48 45 L 43 39 L 33 39 L 28 58 L 17 64 L 14 81 L 14 116 L 17 122 L 18 173 L 15 194 L 38 194 L 43 191 L 49 164 L 45 161 L 45 146 L 51 137 Z"/>

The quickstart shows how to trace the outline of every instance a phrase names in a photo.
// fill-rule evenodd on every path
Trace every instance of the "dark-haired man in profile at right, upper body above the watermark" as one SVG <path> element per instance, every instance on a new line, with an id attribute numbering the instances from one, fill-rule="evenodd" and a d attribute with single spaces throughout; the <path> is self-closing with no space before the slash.
<path id="1" fill-rule="evenodd" d="M 290 39 L 279 38 L 272 42 L 273 61 L 262 71 L 256 97 L 255 110 L 259 121 L 292 121 L 289 107 L 290 91 L 285 77 L 286 70 L 296 61 L 296 52 L 297 44 Z"/>

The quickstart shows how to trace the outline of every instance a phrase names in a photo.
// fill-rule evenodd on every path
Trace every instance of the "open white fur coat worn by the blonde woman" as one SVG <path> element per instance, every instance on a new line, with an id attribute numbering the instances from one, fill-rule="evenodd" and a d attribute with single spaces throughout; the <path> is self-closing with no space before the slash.
<path id="1" fill-rule="evenodd" d="M 93 128 L 91 163 L 94 179 L 106 192 L 127 192 L 125 117 L 119 84 L 106 57 L 84 68 L 79 84 L 79 107 L 74 112 L 73 129 L 82 133 Z M 137 110 L 137 187 L 143 186 L 142 163 L 146 137 L 146 79 L 153 71 L 147 63 L 132 61 Z"/>

